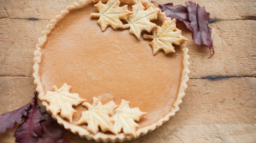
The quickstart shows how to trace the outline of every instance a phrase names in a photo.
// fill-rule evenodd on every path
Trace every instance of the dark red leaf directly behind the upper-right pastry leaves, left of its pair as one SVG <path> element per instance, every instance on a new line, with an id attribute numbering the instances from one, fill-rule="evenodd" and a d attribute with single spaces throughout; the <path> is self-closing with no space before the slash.
<path id="1" fill-rule="evenodd" d="M 156 2 L 152 2 L 152 3 L 156 3 Z M 166 13 L 166 16 L 172 18 L 172 19 L 179 19 L 179 21 L 181 21 L 183 24 L 185 24 L 186 26 L 188 24 L 190 24 L 190 21 L 188 20 L 187 17 L 187 8 L 182 6 L 182 5 L 177 5 L 177 6 L 173 6 L 172 3 L 168 3 L 168 4 L 158 4 L 159 8 Z"/>

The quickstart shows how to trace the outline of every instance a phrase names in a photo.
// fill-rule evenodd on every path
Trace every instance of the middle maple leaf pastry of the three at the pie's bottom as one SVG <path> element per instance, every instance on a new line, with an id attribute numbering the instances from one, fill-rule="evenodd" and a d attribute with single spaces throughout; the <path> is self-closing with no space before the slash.
<path id="1" fill-rule="evenodd" d="M 99 131 L 98 127 L 103 132 L 110 131 L 116 133 L 113 129 L 114 119 L 110 117 L 118 107 L 113 100 L 102 105 L 101 98 L 93 97 L 92 105 L 87 102 L 84 102 L 82 105 L 88 108 L 88 110 L 82 112 L 82 117 L 77 122 L 78 125 L 87 123 L 87 130 L 94 135 Z"/>

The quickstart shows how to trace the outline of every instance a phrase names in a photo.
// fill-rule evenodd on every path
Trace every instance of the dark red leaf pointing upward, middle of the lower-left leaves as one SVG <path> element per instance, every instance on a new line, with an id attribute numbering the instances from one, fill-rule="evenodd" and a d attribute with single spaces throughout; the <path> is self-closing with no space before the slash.
<path id="1" fill-rule="evenodd" d="M 30 104 L 25 121 L 21 123 L 15 131 L 16 142 L 18 143 L 35 143 L 38 136 L 42 135 L 40 121 L 43 120 L 39 105 L 36 102 L 36 93 L 34 101 Z"/>

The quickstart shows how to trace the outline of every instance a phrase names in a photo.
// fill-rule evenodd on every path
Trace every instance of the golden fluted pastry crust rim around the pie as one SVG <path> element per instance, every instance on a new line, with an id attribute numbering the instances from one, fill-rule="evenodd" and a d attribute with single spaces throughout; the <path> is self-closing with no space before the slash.
<path id="1" fill-rule="evenodd" d="M 54 20 L 51 20 L 51 24 L 46 26 L 46 30 L 42 31 L 42 37 L 39 38 L 39 43 L 36 44 L 36 48 L 37 50 L 34 52 L 34 61 L 35 64 L 33 65 L 33 69 L 34 69 L 34 83 L 37 85 L 36 87 L 36 91 L 39 93 L 38 98 L 42 99 L 45 96 L 45 92 L 43 89 L 43 86 L 40 82 L 40 78 L 39 78 L 39 64 L 41 62 L 41 47 L 45 44 L 45 42 L 47 41 L 47 35 L 51 32 L 51 30 L 55 27 L 55 24 L 60 21 L 67 13 L 69 13 L 70 10 L 73 9 L 78 9 L 78 8 L 82 8 L 86 5 L 89 5 L 92 2 L 98 2 L 99 0 L 80 0 L 79 3 L 74 3 L 72 6 L 67 6 L 66 10 L 62 10 L 60 15 L 57 15 L 55 17 Z M 127 4 L 136 4 L 137 0 L 120 0 L 120 2 L 125 2 Z M 103 1 L 104 2 L 104 1 Z M 153 4 L 149 4 L 148 1 L 146 0 L 142 0 L 141 1 L 143 6 L 146 8 L 149 8 L 150 6 L 153 6 Z M 158 14 L 158 20 L 160 21 L 171 21 L 171 19 L 169 17 L 165 16 L 164 12 L 160 12 Z M 188 81 L 189 77 L 188 77 L 188 73 L 190 72 L 188 70 L 188 66 L 190 65 L 190 63 L 188 62 L 188 58 L 189 55 L 187 55 L 188 49 L 185 47 L 186 46 L 186 42 L 182 42 L 180 47 L 181 50 L 183 51 L 183 71 L 182 71 L 182 76 L 181 76 L 181 84 L 179 87 L 179 93 L 177 95 L 177 100 L 176 102 L 173 104 L 173 108 L 171 109 L 170 113 L 168 113 L 167 115 L 165 115 L 165 117 L 159 119 L 156 123 L 153 123 L 149 126 L 143 127 L 143 128 L 139 128 L 138 130 L 136 130 L 136 134 L 134 136 L 132 135 L 124 135 L 124 133 L 119 133 L 117 135 L 114 134 L 105 134 L 103 132 L 97 132 L 95 135 L 88 132 L 86 129 L 80 127 L 80 126 L 76 126 L 75 124 L 72 124 L 70 122 L 68 122 L 67 120 L 63 119 L 59 114 L 52 114 L 52 117 L 54 119 L 57 120 L 57 122 L 61 125 L 64 126 L 64 128 L 70 130 L 73 133 L 77 133 L 80 137 L 86 137 L 88 140 L 95 140 L 95 141 L 103 141 L 103 142 L 122 142 L 124 140 L 131 140 L 132 138 L 137 138 L 140 135 L 145 135 L 148 132 L 151 132 L 153 130 L 155 130 L 156 128 L 158 128 L 159 126 L 161 126 L 165 121 L 169 120 L 169 118 L 171 116 L 175 115 L 175 112 L 177 112 L 179 110 L 179 104 L 182 102 L 181 98 L 185 95 L 184 90 L 186 89 L 187 85 L 186 82 Z M 46 106 L 46 109 L 49 108 L 49 103 L 46 101 L 43 101 L 42 104 L 44 106 Z"/>

